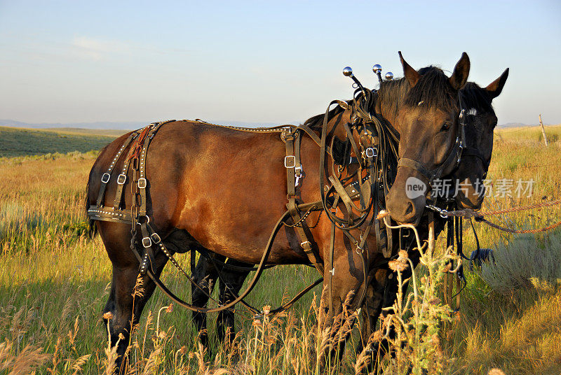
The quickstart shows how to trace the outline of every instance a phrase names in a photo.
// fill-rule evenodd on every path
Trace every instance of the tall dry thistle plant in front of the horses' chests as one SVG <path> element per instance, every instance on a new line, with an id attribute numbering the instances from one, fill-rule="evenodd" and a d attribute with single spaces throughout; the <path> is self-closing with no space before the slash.
<path id="1" fill-rule="evenodd" d="M 398 295 L 393 306 L 384 308 L 385 318 L 380 334 L 388 341 L 393 356 L 387 360 L 391 374 L 441 374 L 449 365 L 449 359 L 442 353 L 440 337 L 445 323 L 452 320 L 452 311 L 438 297 L 442 280 L 457 255 L 452 248 L 435 250 L 433 229 L 429 229 L 428 241 L 421 246 L 419 236 L 417 248 L 420 264 L 417 270 L 406 251 L 401 250 L 397 260 L 389 262 L 396 274 Z M 411 268 L 410 278 L 404 278 L 404 271 Z M 407 283 L 411 290 L 407 293 Z M 386 369 L 387 370 L 387 369 Z"/>

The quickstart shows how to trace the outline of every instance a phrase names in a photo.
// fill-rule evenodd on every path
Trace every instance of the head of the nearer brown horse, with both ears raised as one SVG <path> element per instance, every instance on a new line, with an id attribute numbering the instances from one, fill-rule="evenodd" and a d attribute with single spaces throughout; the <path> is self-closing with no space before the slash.
<path id="1" fill-rule="evenodd" d="M 470 62 L 464 52 L 449 78 L 432 66 L 420 74 L 399 55 L 410 88 L 393 123 L 400 134 L 400 161 L 386 207 L 394 220 L 416 224 L 433 181 L 451 174 L 459 162 L 459 90 L 467 82 Z"/>

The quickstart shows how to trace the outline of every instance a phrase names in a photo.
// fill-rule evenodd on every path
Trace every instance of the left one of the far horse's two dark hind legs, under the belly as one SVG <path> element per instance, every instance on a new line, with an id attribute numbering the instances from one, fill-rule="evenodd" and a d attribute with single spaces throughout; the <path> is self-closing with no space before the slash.
<path id="1" fill-rule="evenodd" d="M 215 256 L 215 255 L 211 255 Z M 219 255 L 216 255 L 219 257 Z M 218 272 L 212 261 L 207 257 L 199 257 L 197 265 L 192 275 L 198 288 L 191 284 L 191 301 L 194 306 L 205 307 L 208 302 L 208 296 L 215 288 L 215 282 L 218 278 Z M 201 311 L 193 311 L 193 321 L 197 330 L 198 339 L 203 346 L 208 347 L 208 332 L 206 330 L 206 313 Z"/>

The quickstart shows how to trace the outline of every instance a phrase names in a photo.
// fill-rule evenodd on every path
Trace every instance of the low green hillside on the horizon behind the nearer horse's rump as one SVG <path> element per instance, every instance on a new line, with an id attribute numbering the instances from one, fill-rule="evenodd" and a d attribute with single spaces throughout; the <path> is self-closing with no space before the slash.
<path id="1" fill-rule="evenodd" d="M 84 129 L 35 130 L 0 127 L 0 157 L 45 155 L 48 153 L 86 153 L 100 150 L 111 143 L 121 131 Z"/>

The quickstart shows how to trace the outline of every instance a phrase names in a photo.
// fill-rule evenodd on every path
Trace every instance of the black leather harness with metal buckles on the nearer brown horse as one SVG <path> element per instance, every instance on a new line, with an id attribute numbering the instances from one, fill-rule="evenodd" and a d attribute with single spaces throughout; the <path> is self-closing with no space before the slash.
<path id="1" fill-rule="evenodd" d="M 360 91 L 361 94 L 357 93 Z M 367 285 L 372 275 L 369 273 L 373 264 L 370 264 L 368 260 L 369 251 L 364 251 L 366 246 L 367 236 L 370 234 L 370 230 L 374 227 L 374 232 L 377 239 L 377 250 L 379 253 L 384 255 L 384 261 L 387 262 L 388 258 L 392 255 L 393 249 L 393 239 L 391 230 L 386 229 L 383 222 L 377 220 L 376 213 L 385 206 L 385 196 L 389 191 L 391 183 L 393 183 L 393 178 L 395 178 L 397 167 L 400 165 L 407 165 L 408 162 L 400 161 L 398 164 L 397 157 L 397 143 L 398 138 L 396 134 L 393 134 L 392 130 L 384 124 L 383 119 L 377 118 L 374 113 L 370 112 L 369 108 L 374 108 L 373 104 L 376 100 L 376 93 L 370 90 L 357 90 L 354 99 L 351 103 L 346 101 L 332 101 L 332 104 L 337 104 L 343 110 L 352 108 L 354 119 L 353 124 L 346 123 L 342 125 L 346 132 L 346 150 L 344 153 L 344 163 L 335 167 L 332 164 L 332 173 L 328 180 L 330 181 L 330 186 L 325 185 L 324 169 L 320 169 L 320 201 L 303 203 L 299 197 L 300 186 L 302 185 L 302 179 L 304 178 L 304 169 L 302 167 L 302 162 L 300 158 L 300 146 L 302 142 L 302 136 L 304 134 L 310 136 L 310 138 L 320 147 L 320 165 L 325 165 L 325 155 L 330 154 L 333 151 L 333 144 L 330 147 L 326 145 L 326 139 L 328 135 L 334 132 L 334 128 L 339 125 L 340 118 L 337 123 L 331 129 L 330 132 L 327 130 L 327 122 L 329 121 L 330 106 L 327 107 L 327 112 L 323 118 L 323 131 L 321 133 L 321 138 L 314 132 L 311 127 L 306 123 L 304 125 L 284 125 L 280 127 L 271 128 L 243 128 L 243 127 L 230 127 L 223 125 L 213 125 L 202 120 L 196 120 L 205 125 L 212 125 L 216 127 L 227 127 L 229 129 L 235 129 L 241 132 L 252 132 L 252 133 L 279 133 L 280 139 L 285 143 L 286 155 L 284 158 L 284 166 L 287 171 L 287 199 L 286 204 L 288 211 L 278 220 L 276 226 L 273 228 L 269 241 L 267 243 L 264 254 L 262 255 L 262 260 L 259 262 L 257 268 L 248 268 L 245 270 L 255 270 L 255 276 L 250 282 L 248 288 L 241 295 L 238 295 L 234 301 L 219 306 L 215 309 L 203 309 L 198 306 L 194 306 L 184 302 L 182 299 L 177 297 L 170 292 L 168 288 L 163 285 L 156 276 L 154 269 L 155 255 L 154 248 L 156 251 L 161 251 L 166 257 L 174 264 L 177 269 L 180 270 L 184 276 L 186 276 L 191 283 L 195 285 L 196 288 L 201 289 L 201 287 L 195 283 L 193 278 L 187 274 L 180 264 L 175 260 L 173 254 L 168 251 L 165 247 L 161 237 L 158 235 L 154 227 L 150 223 L 150 218 L 147 209 L 147 189 L 149 188 L 149 181 L 146 176 L 146 160 L 148 148 L 151 140 L 163 125 L 168 122 L 173 122 L 175 120 L 168 120 L 165 122 L 154 122 L 143 129 L 136 130 L 132 132 L 126 141 L 121 145 L 118 152 L 111 161 L 109 168 L 102 175 L 100 191 L 97 196 L 97 201 L 95 206 L 90 206 L 88 208 L 88 216 L 90 220 L 102 220 L 110 222 L 122 222 L 132 226 L 131 234 L 133 238 L 131 240 L 131 250 L 140 262 L 139 272 L 142 275 L 147 274 L 156 283 L 158 288 L 160 288 L 166 295 L 173 299 L 177 304 L 186 307 L 192 311 L 199 312 L 212 312 L 212 311 L 222 311 L 224 309 L 231 309 L 234 304 L 241 302 L 245 306 L 253 311 L 254 313 L 259 313 L 259 310 L 253 308 L 245 301 L 243 297 L 248 295 L 248 293 L 255 286 L 255 283 L 259 279 L 259 276 L 264 268 L 266 268 L 266 259 L 271 251 L 272 243 L 278 233 L 280 227 L 283 225 L 287 227 L 293 227 L 295 233 L 299 237 L 300 247 L 306 254 L 310 264 L 313 264 L 318 272 L 322 276 L 318 281 L 312 283 L 306 287 L 302 292 L 300 292 L 294 299 L 292 299 L 287 304 L 280 306 L 278 309 L 271 311 L 271 313 L 277 313 L 287 309 L 289 306 L 294 304 L 294 302 L 302 297 L 308 290 L 311 290 L 314 286 L 318 285 L 323 281 L 325 264 L 323 258 L 320 255 L 318 245 L 313 240 L 313 236 L 309 230 L 306 222 L 306 218 L 313 211 L 325 211 L 327 217 L 332 221 L 331 230 L 331 246 L 330 252 L 327 253 L 326 261 L 329 264 L 330 270 L 330 283 L 331 278 L 334 276 L 334 236 L 335 229 L 341 229 L 346 237 L 356 246 L 356 252 L 360 255 L 363 261 L 363 273 L 364 273 L 364 288 L 363 293 L 360 296 L 359 302 L 362 304 Z M 463 113 L 462 113 L 463 114 Z M 463 129 L 462 129 L 463 130 Z M 355 141 L 355 134 L 360 139 L 357 144 Z M 329 133 L 329 134 L 328 134 Z M 462 132 L 463 133 L 463 132 Z M 334 139 L 333 137 L 332 139 Z M 460 137 L 458 137 L 459 139 Z M 458 141 L 454 145 L 454 150 L 450 153 L 448 160 L 458 159 L 461 155 L 461 148 L 463 142 L 463 136 L 461 141 Z M 132 143 L 132 145 L 131 145 Z M 107 185 L 114 175 L 114 168 L 117 162 L 123 156 L 123 153 L 128 149 L 126 160 L 123 164 L 123 169 L 121 173 L 116 176 L 116 194 L 113 201 L 113 206 L 104 206 L 105 192 Z M 459 153 L 456 151 L 459 149 Z M 354 156 L 351 155 L 354 154 Z M 447 163 L 444 163 L 447 164 Z M 350 165 L 355 165 L 358 171 L 351 174 L 351 176 L 342 176 L 341 172 L 346 167 Z M 131 168 L 132 167 L 132 168 Z M 423 173 L 417 164 L 414 165 L 415 169 Z M 422 166 L 421 166 L 422 167 Z M 426 174 L 429 182 L 432 181 L 434 176 L 439 176 L 442 172 L 444 166 L 440 166 L 436 171 L 429 171 Z M 337 168 L 337 171 L 335 170 Z M 132 169 L 132 178 L 128 178 L 128 174 Z M 353 178 L 356 181 L 353 181 Z M 123 208 L 125 206 L 123 201 L 123 191 L 127 183 L 130 183 L 131 193 L 133 194 L 133 204 L 130 209 Z M 358 202 L 358 206 L 356 205 Z M 344 207 L 346 213 L 344 215 L 337 215 L 339 207 Z M 373 211 L 373 212 L 372 212 Z M 358 212 L 358 215 L 354 214 Z M 367 220 L 368 216 L 370 220 Z M 292 223 L 287 222 L 288 218 L 292 219 Z M 360 231 L 360 236 L 358 239 L 351 234 L 351 229 L 359 229 L 359 227 L 364 226 L 365 230 Z M 144 252 L 140 254 L 137 250 L 136 234 L 137 225 L 140 226 L 140 232 L 142 234 L 142 247 Z M 201 255 L 205 255 L 201 253 Z M 209 256 L 206 254 L 205 256 Z M 366 257 L 366 260 L 365 260 Z M 191 253 L 191 266 L 193 266 L 194 254 Z M 215 262 L 213 260 L 213 262 Z M 218 262 L 219 267 L 231 267 L 225 262 Z M 243 267 L 236 267 L 236 269 L 242 269 Z M 329 285 L 330 285 L 329 283 Z M 202 289 L 201 289 L 202 290 Z M 331 294 L 331 288 L 328 288 Z M 203 292 L 205 292 L 203 290 Z M 208 295 L 207 292 L 205 294 Z M 209 296 L 210 297 L 210 296 Z M 212 297 L 212 300 L 215 301 Z M 330 305 L 331 305 L 330 298 Z"/>

